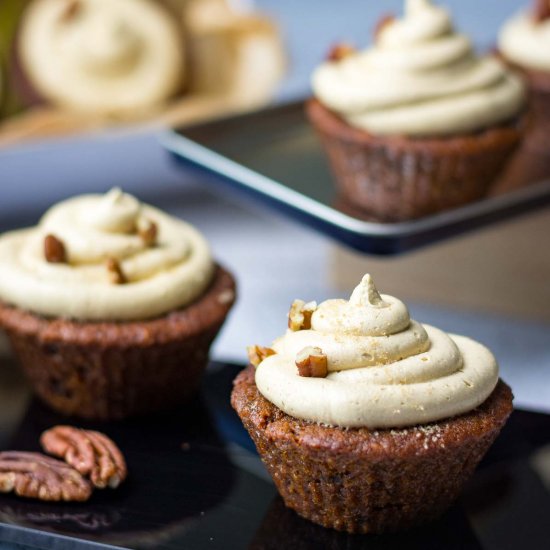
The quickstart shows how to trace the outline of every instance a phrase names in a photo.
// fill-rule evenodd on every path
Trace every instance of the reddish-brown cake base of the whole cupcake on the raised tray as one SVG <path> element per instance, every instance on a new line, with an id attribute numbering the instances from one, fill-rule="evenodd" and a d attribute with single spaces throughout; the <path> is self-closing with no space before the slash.
<path id="1" fill-rule="evenodd" d="M 523 121 L 462 136 L 374 136 L 316 99 L 306 104 L 340 194 L 388 222 L 404 221 L 485 196 L 520 142 Z"/>

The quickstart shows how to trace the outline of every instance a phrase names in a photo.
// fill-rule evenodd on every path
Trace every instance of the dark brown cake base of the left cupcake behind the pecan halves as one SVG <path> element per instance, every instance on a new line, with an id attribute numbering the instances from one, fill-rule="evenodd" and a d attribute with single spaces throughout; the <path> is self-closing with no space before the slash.
<path id="1" fill-rule="evenodd" d="M 173 408 L 192 396 L 235 300 L 221 267 L 184 309 L 142 322 L 46 319 L 0 302 L 0 327 L 36 394 L 53 409 L 120 419 Z"/>

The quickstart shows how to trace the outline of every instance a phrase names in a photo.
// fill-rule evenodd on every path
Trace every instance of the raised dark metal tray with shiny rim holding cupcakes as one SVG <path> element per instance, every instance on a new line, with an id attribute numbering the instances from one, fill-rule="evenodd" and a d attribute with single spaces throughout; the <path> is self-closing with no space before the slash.
<path id="1" fill-rule="evenodd" d="M 375 223 L 334 208 L 332 176 L 303 103 L 168 130 L 161 144 L 208 181 L 232 187 L 361 252 L 399 254 L 550 204 L 550 181 L 441 214 Z"/>

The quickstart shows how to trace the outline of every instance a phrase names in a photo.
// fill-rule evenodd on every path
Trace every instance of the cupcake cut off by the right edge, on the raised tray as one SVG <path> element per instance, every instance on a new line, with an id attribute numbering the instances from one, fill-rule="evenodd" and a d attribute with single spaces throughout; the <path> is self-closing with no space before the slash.
<path id="1" fill-rule="evenodd" d="M 550 1 L 538 0 L 535 9 L 507 21 L 498 49 L 523 75 L 530 99 L 530 125 L 514 164 L 524 179 L 540 180 L 550 175 Z"/>

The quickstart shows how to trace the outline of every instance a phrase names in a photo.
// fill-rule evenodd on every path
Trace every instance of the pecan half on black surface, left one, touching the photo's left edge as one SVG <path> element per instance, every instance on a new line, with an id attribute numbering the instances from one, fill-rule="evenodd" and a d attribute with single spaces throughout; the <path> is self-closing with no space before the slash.
<path id="1" fill-rule="evenodd" d="M 40 453 L 0 452 L 0 492 L 51 501 L 85 501 L 90 483 L 65 462 Z"/>

